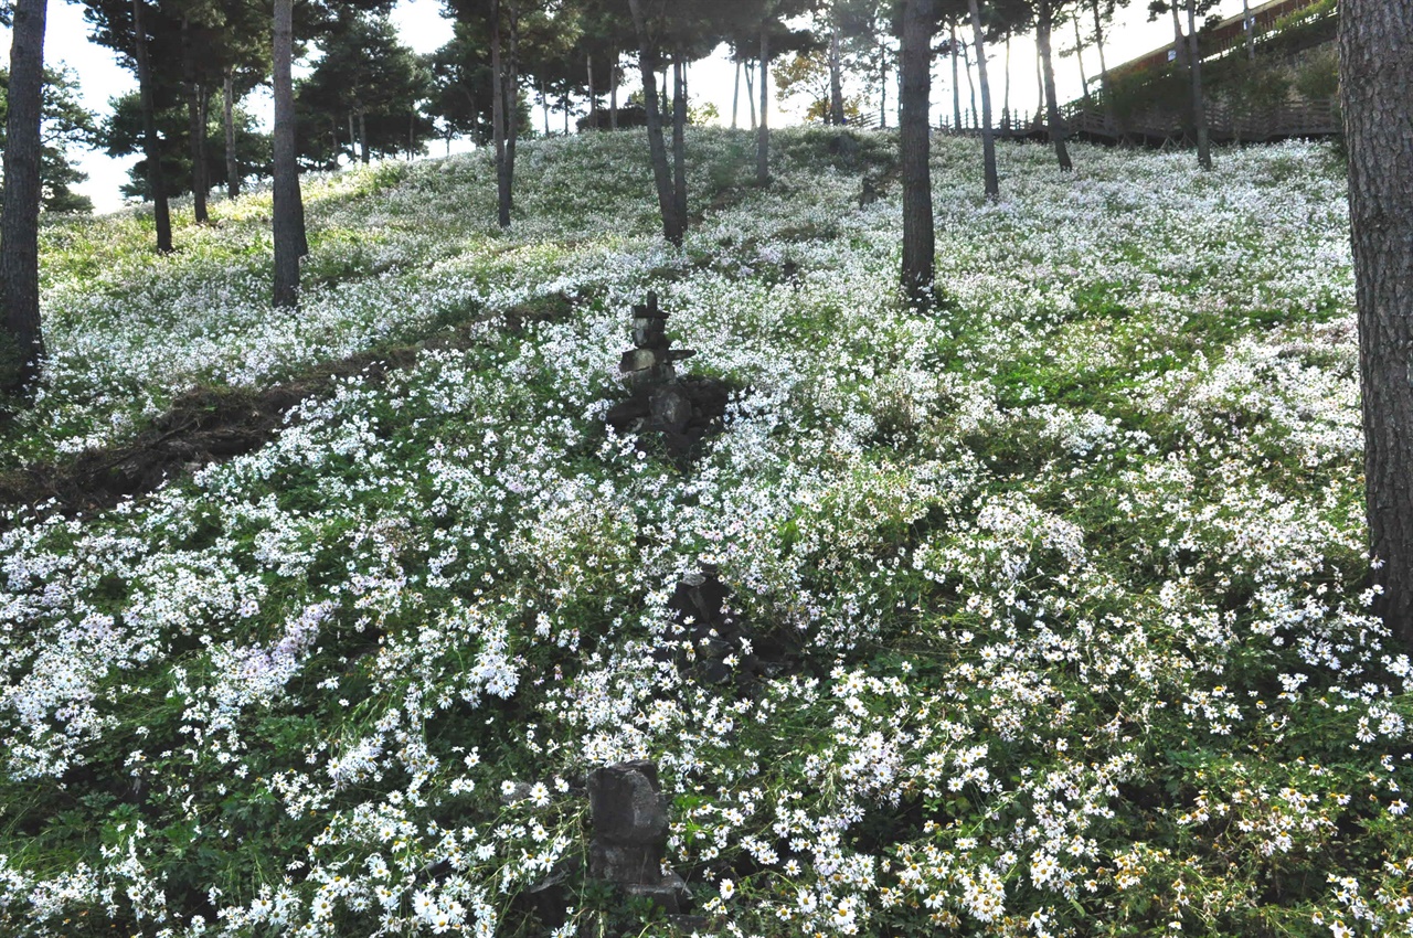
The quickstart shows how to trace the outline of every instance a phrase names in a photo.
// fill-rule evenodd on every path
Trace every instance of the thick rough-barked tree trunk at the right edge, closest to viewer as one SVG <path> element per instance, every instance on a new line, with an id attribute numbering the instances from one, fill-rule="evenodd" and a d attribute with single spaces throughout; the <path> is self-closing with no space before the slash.
<path id="1" fill-rule="evenodd" d="M 1375 612 L 1413 644 L 1413 6 L 1340 4 Z M 1392 651 L 1390 651 L 1392 654 Z"/>

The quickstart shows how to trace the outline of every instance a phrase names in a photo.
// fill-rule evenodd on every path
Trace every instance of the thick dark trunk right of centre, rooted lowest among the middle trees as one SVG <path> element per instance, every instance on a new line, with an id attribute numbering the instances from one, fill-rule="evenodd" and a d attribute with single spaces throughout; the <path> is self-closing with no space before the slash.
<path id="1" fill-rule="evenodd" d="M 933 0 L 903 6 L 903 90 L 899 96 L 900 162 L 903 174 L 903 294 L 913 305 L 933 302 L 934 254 L 933 179 L 928 170 L 930 89 L 933 83 Z"/>

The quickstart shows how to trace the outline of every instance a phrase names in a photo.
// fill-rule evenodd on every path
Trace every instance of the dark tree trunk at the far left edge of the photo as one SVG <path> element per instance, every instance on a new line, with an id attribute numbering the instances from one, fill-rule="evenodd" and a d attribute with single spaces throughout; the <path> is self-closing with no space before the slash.
<path id="1" fill-rule="evenodd" d="M 47 0 L 17 0 L 10 32 L 10 112 L 6 116 L 4 206 L 0 208 L 0 301 L 14 342 L 0 390 L 20 391 L 44 356 L 40 325 L 40 123 L 44 103 Z"/>

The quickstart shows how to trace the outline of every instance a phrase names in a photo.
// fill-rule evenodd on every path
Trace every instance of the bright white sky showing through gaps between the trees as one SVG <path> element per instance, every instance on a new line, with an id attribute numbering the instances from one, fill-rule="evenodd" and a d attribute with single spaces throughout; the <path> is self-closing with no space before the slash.
<path id="1" fill-rule="evenodd" d="M 431 52 L 451 38 L 451 23 L 441 17 L 439 0 L 401 0 L 393 11 L 393 20 L 401 31 L 403 41 L 418 52 Z M 1221 16 L 1241 13 L 1241 0 L 1222 0 L 1215 11 Z M 1091 27 L 1092 28 L 1092 27 Z M 1085 34 L 1088 37 L 1088 28 Z M 103 47 L 89 42 L 89 27 L 83 23 L 82 7 L 73 3 L 51 1 L 48 35 L 45 41 L 45 62 L 66 64 L 79 75 L 83 105 L 90 110 L 105 116 L 110 113 L 109 99 L 123 95 L 136 88 L 134 78 L 119 68 L 113 54 Z M 1121 10 L 1116 23 L 1108 30 L 1105 37 L 1105 58 L 1111 66 L 1135 58 L 1150 49 L 1170 42 L 1173 37 L 1171 20 L 1163 17 L 1156 23 L 1147 21 L 1147 7 L 1135 3 L 1128 10 Z M 966 38 L 966 37 L 962 37 Z M 1070 31 L 1056 35 L 1056 48 L 1072 47 L 1074 35 Z M 10 37 L 8 31 L 0 34 L 0 55 L 8 59 Z M 992 69 L 995 109 L 999 114 L 1002 83 L 1005 81 L 1002 49 L 989 51 L 988 62 Z M 1036 52 L 1034 44 L 1027 38 L 1012 42 L 1012 90 L 1010 100 L 1015 110 L 1033 109 L 1036 105 Z M 1091 78 L 1098 73 L 1099 62 L 1094 48 L 1087 48 L 1084 54 L 1085 73 Z M 625 62 L 627 64 L 627 62 Z M 934 116 L 951 113 L 951 66 L 938 61 L 934 69 L 933 83 Z M 633 71 L 629 71 L 632 83 Z M 735 78 L 733 66 L 725 59 L 725 51 L 709 59 L 704 59 L 691 68 L 688 86 L 694 99 L 709 100 L 716 105 L 722 120 L 731 120 L 732 85 Z M 1070 100 L 1080 93 L 1080 72 L 1074 57 L 1060 58 L 1056 62 L 1056 81 L 1060 86 L 1061 100 Z M 966 78 L 961 76 L 962 107 L 968 107 Z M 626 96 L 632 86 L 623 89 Z M 889 90 L 889 97 L 896 99 L 896 88 Z M 745 96 L 745 89 L 742 89 Z M 791 106 L 803 109 L 803 102 L 787 102 L 781 112 L 771 112 L 774 126 L 788 124 L 798 120 L 790 113 Z M 890 105 L 892 109 L 892 105 Z M 261 110 L 259 106 L 254 109 Z M 536 109 L 536 126 L 541 126 L 543 116 Z M 745 100 L 740 105 L 740 120 L 747 120 Z M 890 114 L 889 123 L 894 117 Z M 934 120 L 935 123 L 935 120 Z M 561 116 L 551 116 L 551 129 L 562 127 Z M 435 151 L 435 148 L 434 148 Z M 79 188 L 93 199 L 97 210 L 110 210 L 120 205 L 117 188 L 127 179 L 127 167 L 137 158 L 112 160 L 103 153 L 81 154 L 79 167 L 89 174 L 89 181 Z"/>

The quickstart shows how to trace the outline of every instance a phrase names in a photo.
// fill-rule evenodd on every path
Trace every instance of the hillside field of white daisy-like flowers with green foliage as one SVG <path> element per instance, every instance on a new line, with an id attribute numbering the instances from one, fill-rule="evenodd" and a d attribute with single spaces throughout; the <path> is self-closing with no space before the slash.
<path id="1" fill-rule="evenodd" d="M 1413 930 L 1337 154 L 1003 147 L 988 205 L 938 140 L 921 315 L 897 186 L 856 198 L 893 138 L 776 144 L 757 191 L 745 134 L 690 136 L 681 253 L 632 133 L 524 144 L 510 233 L 482 155 L 315 181 L 298 314 L 264 196 L 171 257 L 45 229 L 7 469 L 465 340 L 113 510 L 0 517 L 0 934 L 668 934 L 585 874 L 626 759 L 704 934 Z M 649 290 L 735 388 L 692 463 L 605 422 Z M 706 565 L 729 679 L 668 612 Z"/>

